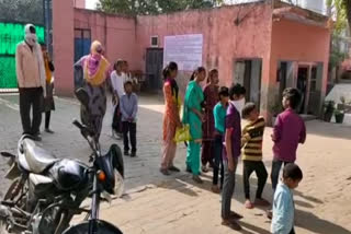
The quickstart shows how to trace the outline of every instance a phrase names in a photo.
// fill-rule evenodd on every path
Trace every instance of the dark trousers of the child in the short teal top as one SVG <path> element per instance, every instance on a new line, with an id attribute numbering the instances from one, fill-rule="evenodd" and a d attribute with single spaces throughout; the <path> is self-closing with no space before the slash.
<path id="1" fill-rule="evenodd" d="M 213 151 L 214 151 L 213 185 L 218 185 L 218 176 L 220 171 L 220 188 L 222 188 L 223 179 L 224 179 L 224 167 L 223 167 L 223 157 L 222 157 L 222 151 L 223 151 L 222 134 L 218 134 L 215 137 Z"/>

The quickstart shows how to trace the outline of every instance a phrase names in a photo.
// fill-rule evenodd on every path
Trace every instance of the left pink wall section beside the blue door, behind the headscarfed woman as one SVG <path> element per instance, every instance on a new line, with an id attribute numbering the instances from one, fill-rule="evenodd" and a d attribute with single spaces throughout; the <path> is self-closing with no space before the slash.
<path id="1" fill-rule="evenodd" d="M 129 61 L 132 70 L 137 67 L 136 26 L 134 17 L 102 14 L 95 11 L 75 9 L 75 28 L 91 30 L 91 40 L 100 40 L 105 57 L 111 63 L 117 59 Z"/>

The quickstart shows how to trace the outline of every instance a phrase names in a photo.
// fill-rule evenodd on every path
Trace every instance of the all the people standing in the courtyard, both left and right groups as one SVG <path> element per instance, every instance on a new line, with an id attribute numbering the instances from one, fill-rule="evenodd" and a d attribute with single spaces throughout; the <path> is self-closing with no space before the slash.
<path id="1" fill-rule="evenodd" d="M 103 46 L 95 40 L 91 45 L 90 54 L 75 63 L 75 90 L 83 89 L 90 97 L 88 105 L 81 105 L 81 120 L 95 131 L 99 140 L 107 105 L 106 93 L 111 92 L 112 134 L 123 138 L 124 155 L 134 157 L 137 152 L 138 112 L 138 97 L 133 92 L 135 81 L 128 72 L 126 61 L 117 60 L 111 68 L 103 55 Z M 46 47 L 43 45 L 41 48 L 37 43 L 35 27 L 32 24 L 26 25 L 25 39 L 16 48 L 20 112 L 23 133 L 32 136 L 37 141 L 41 140 L 42 113 L 45 113 L 45 131 L 53 133 L 49 119 L 50 112 L 55 109 L 52 75 L 54 70 Z M 216 194 L 222 192 L 223 224 L 240 230 L 238 220 L 242 215 L 231 211 L 236 169 L 240 156 L 244 165 L 245 207 L 247 209 L 253 209 L 254 206 L 271 207 L 271 203 L 262 198 L 268 179 L 268 172 L 262 161 L 265 119 L 259 115 L 257 104 L 245 103 L 246 90 L 242 85 L 233 84 L 229 89 L 218 86 L 219 73 L 216 69 L 211 70 L 207 75 L 206 69 L 199 67 L 190 78 L 183 98 L 180 97 L 177 83 L 178 65 L 170 62 L 162 74 L 166 108 L 160 172 L 166 176 L 180 172 L 174 165 L 177 151 L 174 137 L 179 129 L 188 126 L 191 139 L 186 141 L 186 172 L 192 174 L 195 183 L 202 184 L 201 174 L 207 173 L 208 167 L 213 168 L 212 190 Z M 283 92 L 284 112 L 278 116 L 271 136 L 274 142 L 271 171 L 274 198 L 272 213 L 268 214 L 271 214 L 271 230 L 275 234 L 294 233 L 292 189 L 296 188 L 303 178 L 302 171 L 294 162 L 298 143 L 304 143 L 306 140 L 305 124 L 295 112 L 299 103 L 301 94 L 296 89 L 286 89 Z M 241 119 L 247 120 L 242 129 Z M 283 176 L 279 183 L 282 165 L 284 165 Z M 258 178 L 258 188 L 252 200 L 250 176 L 253 172 Z"/>

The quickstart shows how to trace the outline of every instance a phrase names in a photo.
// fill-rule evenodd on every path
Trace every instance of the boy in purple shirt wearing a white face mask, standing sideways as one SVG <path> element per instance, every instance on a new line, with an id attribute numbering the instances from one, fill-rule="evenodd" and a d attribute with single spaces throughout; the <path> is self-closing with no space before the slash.
<path id="1" fill-rule="evenodd" d="M 242 217 L 230 211 L 230 206 L 235 189 L 235 174 L 238 164 L 238 157 L 240 156 L 241 119 L 240 114 L 233 102 L 242 100 L 244 95 L 241 93 L 242 89 L 240 84 L 231 85 L 229 90 L 230 102 L 226 115 L 225 150 L 223 155 L 225 176 L 222 191 L 222 224 L 230 226 L 236 231 L 241 230 L 237 219 Z"/>

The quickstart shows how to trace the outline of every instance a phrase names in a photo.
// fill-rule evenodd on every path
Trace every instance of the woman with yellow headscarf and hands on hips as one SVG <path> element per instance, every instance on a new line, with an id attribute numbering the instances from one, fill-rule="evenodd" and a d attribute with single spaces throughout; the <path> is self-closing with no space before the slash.
<path id="1" fill-rule="evenodd" d="M 106 112 L 106 78 L 110 63 L 103 56 L 100 42 L 91 44 L 90 55 L 75 63 L 75 89 L 83 87 L 89 95 L 88 109 L 81 106 L 81 120 L 95 131 L 99 140 Z"/>

